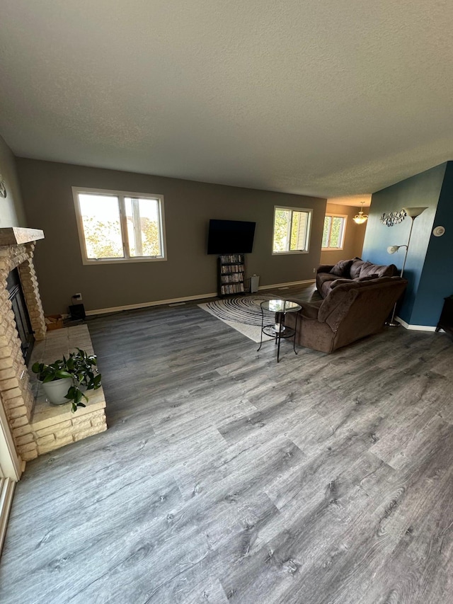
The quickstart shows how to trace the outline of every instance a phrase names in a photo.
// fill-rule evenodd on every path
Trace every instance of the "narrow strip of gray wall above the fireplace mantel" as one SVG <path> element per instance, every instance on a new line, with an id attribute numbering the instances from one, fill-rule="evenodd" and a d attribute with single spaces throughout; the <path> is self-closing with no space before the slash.
<path id="1" fill-rule="evenodd" d="M 16 158 L 0 137 L 0 174 L 6 183 L 6 198 L 0 197 L 0 227 L 26 227 L 16 172 Z"/>

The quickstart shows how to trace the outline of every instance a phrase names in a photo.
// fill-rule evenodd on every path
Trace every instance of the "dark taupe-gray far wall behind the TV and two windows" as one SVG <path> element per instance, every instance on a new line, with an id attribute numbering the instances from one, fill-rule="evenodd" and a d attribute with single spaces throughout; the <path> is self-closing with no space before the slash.
<path id="1" fill-rule="evenodd" d="M 87 310 L 217 291 L 217 257 L 207 256 L 210 218 L 256 222 L 248 276 L 260 285 L 314 278 L 326 200 L 130 172 L 18 159 L 28 226 L 43 229 L 35 262 L 46 314 L 67 312 L 81 292 Z M 157 193 L 165 198 L 167 261 L 84 266 L 71 186 Z M 313 208 L 309 253 L 272 256 L 274 205 Z"/>

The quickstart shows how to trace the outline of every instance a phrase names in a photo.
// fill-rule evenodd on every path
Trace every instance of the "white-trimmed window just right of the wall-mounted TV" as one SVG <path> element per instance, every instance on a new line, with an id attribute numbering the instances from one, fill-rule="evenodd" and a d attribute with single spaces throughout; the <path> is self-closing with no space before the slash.
<path id="1" fill-rule="evenodd" d="M 273 253 L 309 251 L 311 214 L 300 207 L 274 207 Z"/>

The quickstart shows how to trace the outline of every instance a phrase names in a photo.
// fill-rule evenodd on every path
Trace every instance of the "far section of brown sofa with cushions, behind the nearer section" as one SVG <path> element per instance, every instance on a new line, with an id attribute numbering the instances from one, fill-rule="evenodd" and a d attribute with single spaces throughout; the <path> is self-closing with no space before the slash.
<path id="1" fill-rule="evenodd" d="M 321 264 L 316 271 L 316 287 L 321 296 L 325 298 L 333 287 L 340 283 L 348 283 L 350 280 L 362 282 L 379 277 L 394 277 L 397 274 L 398 268 L 394 264 L 372 264 L 360 258 L 352 258 L 352 260 L 342 260 L 336 265 Z M 341 280 L 340 283 L 338 280 Z"/>

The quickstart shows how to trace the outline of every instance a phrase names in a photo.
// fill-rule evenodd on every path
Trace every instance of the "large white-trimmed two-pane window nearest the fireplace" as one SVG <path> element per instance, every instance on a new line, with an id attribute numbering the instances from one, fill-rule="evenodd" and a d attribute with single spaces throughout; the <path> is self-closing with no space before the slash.
<path id="1" fill-rule="evenodd" d="M 162 195 L 72 191 L 84 264 L 166 259 Z"/>

